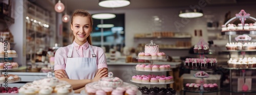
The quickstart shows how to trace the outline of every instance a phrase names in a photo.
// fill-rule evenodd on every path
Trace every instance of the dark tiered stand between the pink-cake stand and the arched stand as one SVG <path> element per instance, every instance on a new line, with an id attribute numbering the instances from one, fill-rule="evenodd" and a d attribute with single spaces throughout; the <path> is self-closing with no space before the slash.
<path id="1" fill-rule="evenodd" d="M 197 45 L 207 45 L 207 43 L 203 40 L 203 39 L 200 39 L 200 41 L 197 43 Z M 197 55 L 200 55 L 200 58 L 203 59 L 205 57 L 205 55 L 207 54 L 211 54 L 211 52 L 209 51 L 208 53 L 194 53 L 194 54 L 197 54 Z M 183 68 L 184 70 L 191 70 L 191 71 L 198 71 L 198 72 L 201 72 L 201 71 L 214 71 L 214 70 L 217 70 L 217 66 L 216 68 L 213 68 L 213 69 L 206 69 L 206 70 L 202 70 L 202 69 L 192 69 L 192 68 Z M 186 92 L 193 92 L 193 93 L 200 93 L 200 95 L 203 95 L 203 93 L 212 93 L 212 92 L 216 92 L 216 94 L 218 95 L 218 92 L 221 91 L 219 88 L 217 90 L 204 90 L 204 87 L 203 87 L 203 84 L 204 84 L 204 78 L 208 78 L 209 76 L 196 76 L 194 74 L 194 77 L 196 78 L 201 78 L 200 80 L 200 90 L 188 90 L 188 89 L 185 89 L 183 88 L 183 94 L 186 95 Z"/>

